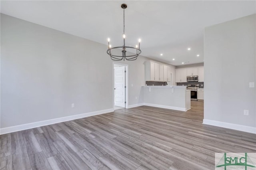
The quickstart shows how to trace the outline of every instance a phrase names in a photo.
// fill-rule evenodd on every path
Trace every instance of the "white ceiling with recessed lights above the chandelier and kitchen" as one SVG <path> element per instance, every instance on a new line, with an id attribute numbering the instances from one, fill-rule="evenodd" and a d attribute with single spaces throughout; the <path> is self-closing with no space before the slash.
<path id="1" fill-rule="evenodd" d="M 172 65 L 204 62 L 205 27 L 256 13 L 255 0 L 1 0 L 0 3 L 3 14 L 103 44 L 110 38 L 112 46 L 122 45 L 123 9 L 120 5 L 126 3 L 126 45 L 135 46 L 141 38 L 143 56 Z"/>

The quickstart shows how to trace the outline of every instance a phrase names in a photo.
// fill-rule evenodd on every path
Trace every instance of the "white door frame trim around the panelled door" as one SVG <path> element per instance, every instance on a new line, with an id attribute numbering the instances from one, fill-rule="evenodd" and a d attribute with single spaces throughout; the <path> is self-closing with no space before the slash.
<path id="1" fill-rule="evenodd" d="M 126 74 L 125 74 L 125 86 L 126 86 L 126 89 L 125 89 L 125 101 L 126 101 L 126 104 L 125 104 L 125 108 L 127 109 L 128 108 L 128 77 L 129 77 L 129 74 L 128 74 L 128 64 L 123 64 L 123 63 L 117 63 L 117 62 L 113 62 L 112 63 L 112 102 L 113 102 L 113 110 L 115 108 L 115 73 L 114 73 L 114 65 L 122 65 L 125 67 L 125 70 L 126 70 Z"/>

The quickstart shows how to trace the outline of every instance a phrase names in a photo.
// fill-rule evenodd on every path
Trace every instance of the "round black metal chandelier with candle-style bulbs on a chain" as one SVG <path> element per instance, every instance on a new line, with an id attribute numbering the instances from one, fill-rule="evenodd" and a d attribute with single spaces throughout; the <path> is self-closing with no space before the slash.
<path id="1" fill-rule="evenodd" d="M 126 4 L 122 4 L 121 8 L 126 9 L 127 5 Z M 120 61 L 122 59 L 126 59 L 126 60 L 136 60 L 137 57 L 140 55 L 141 50 L 140 50 L 140 39 L 139 41 L 139 46 L 136 45 L 135 47 L 131 47 L 131 46 L 125 46 L 125 34 L 123 33 L 123 39 L 124 39 L 124 45 L 123 46 L 119 46 L 119 47 L 111 47 L 111 45 L 109 44 L 110 39 L 108 38 L 108 50 L 107 53 L 108 55 L 110 55 L 111 59 L 114 61 Z M 122 50 L 122 55 L 116 55 L 116 53 L 112 54 L 111 50 L 113 51 L 113 49 L 121 49 Z M 132 49 L 133 52 L 129 55 L 126 55 L 126 49 Z M 130 50 L 129 50 L 130 51 Z M 135 54 L 136 51 L 136 54 Z"/>

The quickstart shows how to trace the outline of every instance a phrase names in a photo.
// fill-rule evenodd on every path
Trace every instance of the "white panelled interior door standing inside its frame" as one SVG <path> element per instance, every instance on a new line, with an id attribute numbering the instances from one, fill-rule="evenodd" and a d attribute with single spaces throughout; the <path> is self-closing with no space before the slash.
<path id="1" fill-rule="evenodd" d="M 114 105 L 125 107 L 125 66 L 114 67 Z"/>

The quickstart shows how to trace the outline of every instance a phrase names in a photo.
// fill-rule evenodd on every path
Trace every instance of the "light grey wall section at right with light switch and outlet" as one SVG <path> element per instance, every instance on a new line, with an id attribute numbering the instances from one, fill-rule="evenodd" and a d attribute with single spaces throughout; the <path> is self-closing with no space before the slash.
<path id="1" fill-rule="evenodd" d="M 253 127 L 256 132 L 256 90 L 249 88 L 249 82 L 256 81 L 255 36 L 256 15 L 205 29 L 205 123 Z M 244 109 L 249 110 L 248 116 Z"/>

